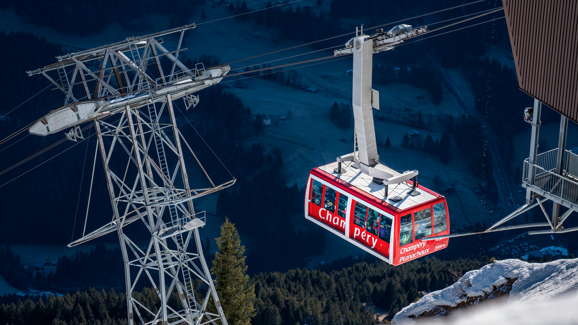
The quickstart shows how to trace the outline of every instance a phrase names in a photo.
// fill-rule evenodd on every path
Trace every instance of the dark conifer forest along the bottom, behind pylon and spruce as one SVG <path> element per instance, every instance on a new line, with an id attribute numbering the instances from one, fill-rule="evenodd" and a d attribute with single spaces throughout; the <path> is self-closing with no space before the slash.
<path id="1" fill-rule="evenodd" d="M 369 304 L 389 309 L 392 316 L 416 300 L 418 291 L 438 290 L 470 269 L 489 260 L 440 261 L 425 257 L 393 267 L 365 262 L 326 273 L 318 269 L 291 269 L 255 275 L 255 325 L 370 325 L 375 317 Z M 158 308 L 151 289 L 135 293 L 147 308 Z M 114 290 L 89 289 L 64 297 L 18 300 L 0 298 L 0 323 L 19 325 L 125 324 L 126 300 Z M 390 317 L 391 317 L 390 316 Z"/>

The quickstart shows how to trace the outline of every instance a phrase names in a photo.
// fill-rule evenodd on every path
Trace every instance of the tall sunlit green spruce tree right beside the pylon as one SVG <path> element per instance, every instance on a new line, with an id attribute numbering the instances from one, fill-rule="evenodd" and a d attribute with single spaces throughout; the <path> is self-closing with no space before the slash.
<path id="1" fill-rule="evenodd" d="M 241 245 L 239 232 L 229 219 L 225 219 L 216 241 L 218 252 L 211 273 L 217 278 L 215 287 L 225 318 L 229 324 L 249 325 L 251 317 L 255 316 L 255 285 L 249 283 L 245 246 Z"/>

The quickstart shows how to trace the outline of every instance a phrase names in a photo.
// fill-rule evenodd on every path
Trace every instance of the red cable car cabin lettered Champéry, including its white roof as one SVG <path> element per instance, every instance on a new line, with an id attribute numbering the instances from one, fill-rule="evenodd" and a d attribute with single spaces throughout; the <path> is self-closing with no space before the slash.
<path id="1" fill-rule="evenodd" d="M 334 171 L 338 162 L 313 168 L 307 181 L 305 217 L 387 263 L 399 265 L 447 247 L 446 198 L 413 183 L 385 186 L 350 166 Z"/>

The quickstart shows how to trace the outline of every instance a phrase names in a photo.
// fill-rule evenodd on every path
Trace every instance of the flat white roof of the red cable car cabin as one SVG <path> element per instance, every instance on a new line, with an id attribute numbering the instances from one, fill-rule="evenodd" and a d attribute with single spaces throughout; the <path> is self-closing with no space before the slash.
<path id="1" fill-rule="evenodd" d="M 385 195 L 385 186 L 373 183 L 373 178 L 369 175 L 362 173 L 359 169 L 353 167 L 352 162 L 342 162 L 341 168 L 345 171 L 341 175 L 338 175 L 334 171 L 337 168 L 338 162 L 332 162 L 331 164 L 327 164 L 324 166 L 319 167 L 324 172 L 330 173 L 332 176 L 347 182 L 358 189 L 364 191 L 369 195 L 373 195 L 376 198 L 381 198 L 382 201 L 386 201 L 387 204 L 395 206 L 400 210 L 412 208 L 412 206 L 416 206 L 418 204 L 422 204 L 424 202 L 433 200 L 437 198 L 435 195 L 428 193 L 427 191 L 417 189 L 420 192 L 419 195 L 412 196 L 409 192 L 412 190 L 412 186 L 407 183 L 399 183 L 399 184 L 390 184 L 388 188 L 388 195 L 387 199 L 384 200 Z M 398 202 L 391 201 L 389 199 L 401 196 L 403 199 Z"/>

